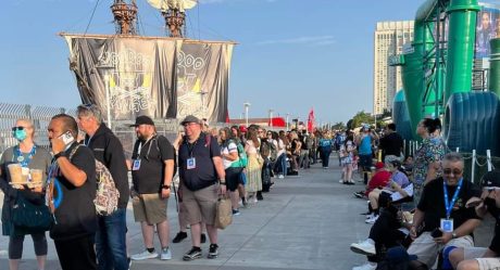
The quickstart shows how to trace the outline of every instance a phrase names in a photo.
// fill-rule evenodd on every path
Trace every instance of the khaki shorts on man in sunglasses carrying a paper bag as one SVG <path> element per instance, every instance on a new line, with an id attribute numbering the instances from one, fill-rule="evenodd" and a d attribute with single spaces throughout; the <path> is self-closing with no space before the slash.
<path id="1" fill-rule="evenodd" d="M 218 200 L 218 184 L 212 184 L 202 190 L 190 191 L 183 188 L 183 205 L 185 217 L 189 224 L 204 222 L 213 226 L 215 220 L 215 206 Z"/>

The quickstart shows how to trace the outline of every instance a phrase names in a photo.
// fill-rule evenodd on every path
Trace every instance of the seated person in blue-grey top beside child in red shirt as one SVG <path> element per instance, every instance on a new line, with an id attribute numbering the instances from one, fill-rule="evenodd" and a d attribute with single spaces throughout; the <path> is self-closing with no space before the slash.
<path id="1" fill-rule="evenodd" d="M 413 196 L 413 184 L 408 180 L 407 175 L 401 172 L 401 162 L 392 159 L 387 164 L 387 169 L 391 172 L 389 182 L 380 188 L 375 188 L 368 194 L 370 205 L 374 215 L 366 219 L 366 223 L 374 223 L 378 218 L 378 198 L 386 196 L 391 202 L 402 201 L 405 197 Z"/>

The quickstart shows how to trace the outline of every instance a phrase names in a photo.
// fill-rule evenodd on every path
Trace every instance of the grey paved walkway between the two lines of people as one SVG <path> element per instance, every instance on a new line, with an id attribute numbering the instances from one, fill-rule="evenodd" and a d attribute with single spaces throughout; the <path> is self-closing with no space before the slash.
<path id="1" fill-rule="evenodd" d="M 333 166 L 332 166 L 333 165 Z M 233 224 L 220 231 L 220 256 L 207 259 L 209 243 L 202 245 L 203 258 L 183 261 L 190 248 L 190 239 L 171 244 L 173 259 L 134 261 L 132 269 L 203 269 L 203 270 L 347 270 L 365 262 L 365 257 L 349 250 L 352 242 L 367 236 L 370 226 L 364 223 L 366 203 L 352 192 L 363 185 L 339 183 L 340 169 L 336 158 L 330 168 L 313 165 L 301 170 L 299 177 L 274 179 L 275 187 L 264 194 L 264 201 L 234 218 Z M 134 222 L 132 206 L 127 213 L 132 236 L 132 254 L 142 252 L 140 227 Z M 168 206 L 171 239 L 178 231 L 175 202 Z M 489 231 L 491 229 L 486 229 Z M 486 244 L 485 244 L 486 245 Z M 157 249 L 160 247 L 155 239 Z M 8 239 L 0 237 L 0 269 L 8 268 Z M 49 240 L 48 270 L 60 269 L 53 243 Z M 36 270 L 33 243 L 25 241 L 22 270 Z"/>

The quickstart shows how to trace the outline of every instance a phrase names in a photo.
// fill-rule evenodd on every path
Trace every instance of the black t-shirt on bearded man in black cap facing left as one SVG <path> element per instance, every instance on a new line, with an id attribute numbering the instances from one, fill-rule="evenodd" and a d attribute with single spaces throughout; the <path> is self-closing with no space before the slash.
<path id="1" fill-rule="evenodd" d="M 134 189 L 139 194 L 159 193 L 165 177 L 165 160 L 174 158 L 174 146 L 165 137 L 155 136 L 148 141 L 137 140 L 132 159 L 140 159 L 140 167 L 132 170 Z"/>

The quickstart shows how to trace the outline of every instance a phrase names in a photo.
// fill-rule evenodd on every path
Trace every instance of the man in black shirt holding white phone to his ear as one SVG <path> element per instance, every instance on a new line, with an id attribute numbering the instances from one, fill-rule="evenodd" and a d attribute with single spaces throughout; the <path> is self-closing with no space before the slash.
<path id="1" fill-rule="evenodd" d="M 57 160 L 57 167 L 52 167 L 48 178 L 47 193 L 55 216 L 50 236 L 54 240 L 59 261 L 63 270 L 97 269 L 93 250 L 96 162 L 92 151 L 76 142 L 78 127 L 70 115 L 52 117 L 48 131 Z"/>

